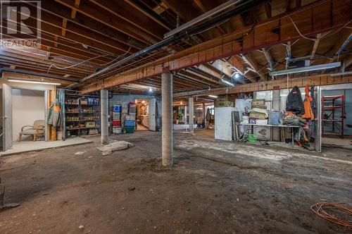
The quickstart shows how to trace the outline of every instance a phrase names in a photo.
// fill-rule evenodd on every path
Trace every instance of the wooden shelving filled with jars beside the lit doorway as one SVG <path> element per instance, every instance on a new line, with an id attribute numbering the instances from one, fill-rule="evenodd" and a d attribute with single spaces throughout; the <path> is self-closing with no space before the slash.
<path id="1" fill-rule="evenodd" d="M 99 97 L 65 92 L 66 138 L 96 135 L 100 131 Z"/>

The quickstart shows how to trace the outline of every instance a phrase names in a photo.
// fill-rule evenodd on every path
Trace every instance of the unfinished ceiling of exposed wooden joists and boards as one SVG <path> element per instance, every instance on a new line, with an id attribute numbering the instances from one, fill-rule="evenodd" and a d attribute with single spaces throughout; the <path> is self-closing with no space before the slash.
<path id="1" fill-rule="evenodd" d="M 264 4 L 233 16 L 215 27 L 190 37 L 184 37 L 167 47 L 162 47 L 123 66 L 80 82 L 97 70 L 161 42 L 163 35 L 175 29 L 177 24 L 187 23 L 225 2 L 225 0 L 42 1 L 41 46 L 31 50 L 2 48 L 0 64 L 11 70 L 26 70 L 65 78 L 66 80 L 62 81 L 63 86 L 79 82 L 75 88 L 80 90 L 94 82 L 101 82 L 103 79 L 154 63 L 158 59 L 180 53 L 184 49 L 203 42 L 235 34 L 244 28 L 249 28 L 249 35 L 251 35 L 260 23 L 270 22 L 271 18 L 294 12 L 297 9 L 319 5 L 315 9 L 324 10 L 329 4 L 337 5 L 336 8 L 341 13 L 348 11 L 346 6 L 351 9 L 350 1 L 345 0 L 338 2 L 331 0 L 265 1 Z M 33 8 L 30 3 L 27 6 Z M 236 7 L 232 6 L 227 11 Z M 300 23 L 299 19 L 294 20 L 297 24 Z M 35 23 L 34 19 L 29 22 L 29 24 Z M 322 25 L 322 27 L 325 26 L 327 27 L 327 25 Z M 303 32 L 305 28 L 298 28 L 298 30 Z M 337 61 L 337 58 L 332 57 L 340 49 L 337 45 L 341 45 L 348 37 L 351 37 L 350 35 L 351 27 L 336 27 L 322 34 L 310 35 L 309 39 L 303 37 L 295 39 L 290 42 L 292 58 L 311 56 L 311 62 L 314 65 Z M 322 38 L 316 42 L 318 37 Z M 253 47 L 244 54 L 177 70 L 173 80 L 174 92 L 231 88 L 232 85 L 270 80 L 270 70 L 283 70 L 287 67 L 287 51 L 287 42 L 271 44 L 263 48 Z M 351 54 L 350 51 L 351 45 L 348 45 L 344 48 L 344 53 L 339 56 L 339 61 L 345 58 L 350 61 L 351 56 L 346 55 Z M 324 59 L 318 59 L 320 57 Z M 351 68 L 346 67 L 345 69 Z M 329 71 L 319 71 L 319 73 L 327 72 Z M 236 73 L 241 76 L 234 79 Z M 135 80 L 130 84 L 110 88 L 114 92 L 122 93 L 148 93 L 151 90 L 159 92 L 161 76 L 153 75 Z"/>

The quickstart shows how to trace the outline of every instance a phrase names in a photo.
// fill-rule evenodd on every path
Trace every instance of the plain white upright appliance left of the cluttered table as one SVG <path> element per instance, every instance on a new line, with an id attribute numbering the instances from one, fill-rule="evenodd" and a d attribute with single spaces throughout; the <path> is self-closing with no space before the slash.
<path id="1" fill-rule="evenodd" d="M 234 107 L 215 107 L 215 139 L 232 140 L 232 116 Z"/>

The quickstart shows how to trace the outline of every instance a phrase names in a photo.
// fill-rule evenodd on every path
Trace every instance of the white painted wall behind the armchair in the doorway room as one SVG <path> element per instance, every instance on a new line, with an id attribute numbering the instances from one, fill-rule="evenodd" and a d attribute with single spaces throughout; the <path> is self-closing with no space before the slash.
<path id="1" fill-rule="evenodd" d="M 36 120 L 45 119 L 44 91 L 12 90 L 13 140 L 25 125 L 33 125 Z M 25 137 L 23 137 L 25 139 Z"/>

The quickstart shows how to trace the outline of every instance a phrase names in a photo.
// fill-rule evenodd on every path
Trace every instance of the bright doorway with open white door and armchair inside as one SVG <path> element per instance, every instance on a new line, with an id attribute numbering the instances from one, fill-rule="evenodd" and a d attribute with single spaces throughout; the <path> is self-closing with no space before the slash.
<path id="1" fill-rule="evenodd" d="M 46 97 L 44 91 L 11 88 L 4 85 L 0 97 L 1 151 L 20 144 L 45 141 Z"/>

